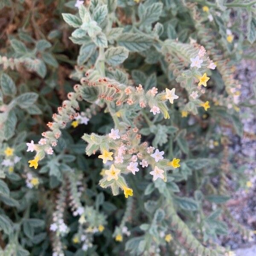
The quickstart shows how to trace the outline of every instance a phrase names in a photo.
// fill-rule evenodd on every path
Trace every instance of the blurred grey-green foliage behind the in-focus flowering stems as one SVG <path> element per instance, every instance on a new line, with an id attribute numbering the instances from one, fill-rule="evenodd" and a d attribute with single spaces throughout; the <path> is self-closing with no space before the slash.
<path id="1" fill-rule="evenodd" d="M 89 2 L 85 1 L 84 6 Z M 224 250 L 215 244 L 218 244 L 218 237 L 227 235 L 224 216 L 233 218 L 224 203 L 239 186 L 248 185 L 249 179 L 244 171 L 253 160 L 253 156 L 244 156 L 244 165 L 239 167 L 234 161 L 227 130 L 244 136 L 240 119 L 246 116 L 246 112 L 227 109 L 229 94 L 225 91 L 233 81 L 235 65 L 242 58 L 255 59 L 255 52 L 251 51 L 256 38 L 253 1 L 157 1 L 163 3 L 159 15 L 154 9 L 149 12 L 156 1 L 143 1 L 140 5 L 133 0 L 91 2 L 99 6 L 107 4 L 108 8 L 117 4 L 115 15 L 110 12 L 107 19 L 116 18 L 118 21 L 115 20 L 114 26 L 125 27 L 126 32 L 134 29 L 134 33 L 149 35 L 159 21 L 163 24 L 162 41 L 178 38 L 179 43 L 189 44 L 193 38 L 206 47 L 210 58 L 214 61 L 215 58 L 221 59 L 221 65 L 217 64 L 217 70 L 211 72 L 207 87 L 206 99 L 210 100 L 211 109 L 205 112 L 195 106 L 194 110 L 198 109 L 195 113 L 182 118 L 180 112 L 187 110 L 184 108 L 186 90 L 192 83 L 192 80 L 186 80 L 180 87 L 177 84 L 183 81 L 175 80 L 187 68 L 183 57 L 180 60 L 171 54 L 172 58 L 168 60 L 166 52 L 160 55 L 157 44 L 149 48 L 147 41 L 140 42 L 139 46 L 136 45 L 139 48 L 134 50 L 134 46 L 124 42 L 121 35 L 119 43 L 114 38 L 109 44 L 116 45 L 117 42 L 127 47 L 129 57 L 117 66 L 109 63 L 107 76 L 125 85 L 141 83 L 148 89 L 157 86 L 158 92 L 168 84 L 169 88 L 176 87 L 176 94 L 180 96 L 177 104 L 168 105 L 170 120 L 163 119 L 162 114 L 153 117 L 149 110 L 145 113 L 137 107 L 124 107 L 126 119 L 139 115 L 142 141 L 147 140 L 154 147 L 162 148 L 170 160 L 172 157 L 181 159 L 182 167 L 170 173 L 168 182 L 174 205 L 169 202 L 166 207 L 161 195 L 163 185 L 153 183 L 145 174 L 127 179 L 134 189 L 134 196 L 128 199 L 123 195 L 113 196 L 110 189 L 98 185 L 102 178 L 102 161 L 97 156 L 84 154 L 87 144 L 81 137 L 84 133 L 105 135 L 114 127 L 111 115 L 106 113 L 108 110 L 104 111 L 107 109 L 104 100 L 91 108 L 90 103 L 79 102 L 81 111 L 89 111 L 89 125 L 73 128 L 68 123 L 54 148 L 54 155 L 45 157 L 37 170 L 29 168 L 27 162 L 34 154 L 26 152 L 26 143 L 31 140 L 38 142 L 41 133 L 49 129 L 46 124 L 52 121 L 52 114 L 67 99 L 67 93 L 73 91 L 73 85 L 93 67 L 98 48 L 89 52 L 86 48 L 83 52 L 81 44 L 70 40 L 74 29 L 64 22 L 61 14 L 76 14 L 76 1 L 1 1 L 0 159 L 5 159 L 7 147 L 14 148 L 14 154 L 21 157 L 13 172 L 3 165 L 0 168 L 1 253 L 51 255 L 55 251 L 57 255 L 65 252 L 65 255 L 78 256 L 140 255 L 144 251 L 145 255 L 223 255 L 229 248 Z M 202 10 L 205 5 L 209 6 L 213 22 L 209 21 L 209 13 Z M 147 19 L 146 9 L 149 16 L 153 14 L 150 19 Z M 231 44 L 227 42 L 227 28 L 234 35 Z M 182 44 L 175 47 L 172 52 L 182 52 Z M 168 61 L 174 65 L 169 66 Z M 235 107 L 255 109 L 251 103 L 254 96 L 251 94 Z M 214 105 L 217 101 L 220 106 Z M 255 139 L 250 132 L 246 135 Z M 209 148 L 210 140 L 218 142 L 218 146 Z M 27 186 L 28 173 L 39 179 L 38 186 Z M 231 189 L 230 180 L 233 180 Z M 91 223 L 96 221 L 105 227 L 102 233 L 88 235 L 93 247 L 86 252 L 82 250 L 81 241 L 74 242 L 76 236 L 81 239 L 81 233 L 85 232 L 85 227 L 79 224 L 79 217 L 73 214 L 74 204 L 89 207 L 89 215 L 99 216 L 99 220 L 93 219 Z M 169 215 L 176 212 L 179 219 L 170 220 Z M 53 216 L 62 218 L 62 214 L 69 228 L 65 236 L 50 230 Z M 232 228 L 239 230 L 244 238 L 252 236 L 247 227 L 235 219 L 231 222 Z M 124 235 L 124 241 L 119 243 L 115 237 L 122 226 L 127 226 L 132 235 Z M 165 235 L 172 234 L 173 240 L 166 242 L 161 231 Z"/>

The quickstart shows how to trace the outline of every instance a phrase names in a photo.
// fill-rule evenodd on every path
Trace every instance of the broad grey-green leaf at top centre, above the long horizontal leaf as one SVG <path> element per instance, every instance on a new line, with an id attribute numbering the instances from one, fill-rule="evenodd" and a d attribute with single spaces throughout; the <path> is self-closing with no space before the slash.
<path id="1" fill-rule="evenodd" d="M 142 6 L 142 5 L 141 5 Z M 157 21 L 162 13 L 163 3 L 153 3 L 147 8 L 140 9 L 138 15 L 140 17 L 140 24 L 143 26 L 151 26 Z"/>

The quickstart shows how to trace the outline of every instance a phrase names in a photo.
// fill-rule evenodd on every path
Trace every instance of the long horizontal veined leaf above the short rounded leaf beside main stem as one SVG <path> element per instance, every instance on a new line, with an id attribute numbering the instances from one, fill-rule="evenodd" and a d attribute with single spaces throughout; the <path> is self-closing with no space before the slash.
<path id="1" fill-rule="evenodd" d="M 152 38 L 135 33 L 122 33 L 116 41 L 120 46 L 124 46 L 131 52 L 145 51 L 153 44 Z"/>

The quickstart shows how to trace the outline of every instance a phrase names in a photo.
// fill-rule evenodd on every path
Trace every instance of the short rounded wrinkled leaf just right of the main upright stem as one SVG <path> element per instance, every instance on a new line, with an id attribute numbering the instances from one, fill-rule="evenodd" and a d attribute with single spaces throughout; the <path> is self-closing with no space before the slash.
<path id="1" fill-rule="evenodd" d="M 129 51 L 125 47 L 110 47 L 105 52 L 105 59 L 108 64 L 116 66 L 128 58 Z"/>

